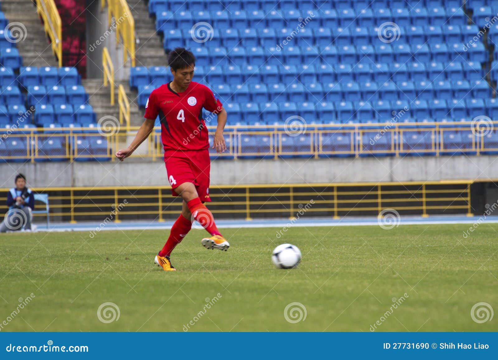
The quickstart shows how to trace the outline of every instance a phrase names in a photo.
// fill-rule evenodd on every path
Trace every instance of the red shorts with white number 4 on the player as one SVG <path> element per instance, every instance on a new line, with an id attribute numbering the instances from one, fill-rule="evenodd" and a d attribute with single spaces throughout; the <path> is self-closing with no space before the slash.
<path id="1" fill-rule="evenodd" d="M 209 171 L 211 160 L 209 150 L 175 151 L 164 152 L 164 163 L 168 173 L 168 181 L 171 185 L 173 196 L 179 196 L 174 189 L 179 185 L 189 182 L 195 185 L 199 199 L 204 203 L 211 201 L 209 197 Z"/>

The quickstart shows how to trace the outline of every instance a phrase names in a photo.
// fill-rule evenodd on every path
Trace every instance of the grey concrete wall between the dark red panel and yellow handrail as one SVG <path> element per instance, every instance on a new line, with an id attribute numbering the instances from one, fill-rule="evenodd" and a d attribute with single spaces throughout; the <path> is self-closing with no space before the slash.
<path id="1" fill-rule="evenodd" d="M 101 11 L 100 0 L 87 0 L 86 5 L 87 78 L 103 78 L 102 51 L 107 47 L 114 64 L 115 81 L 127 79 L 129 68 L 124 67 L 123 45 L 116 42 L 116 28 L 108 21 L 107 6 Z"/>

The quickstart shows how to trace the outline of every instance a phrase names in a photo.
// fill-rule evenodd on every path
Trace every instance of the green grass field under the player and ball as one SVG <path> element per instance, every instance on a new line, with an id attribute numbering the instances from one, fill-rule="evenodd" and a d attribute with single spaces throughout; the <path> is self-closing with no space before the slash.
<path id="1" fill-rule="evenodd" d="M 4 234 L 1 331 L 369 332 L 376 321 L 375 331 L 498 331 L 498 319 L 471 318 L 479 302 L 498 310 L 498 225 L 464 239 L 468 229 L 291 228 L 282 239 L 277 228 L 225 229 L 227 252 L 205 249 L 204 232 L 192 230 L 173 252 L 176 272 L 153 264 L 168 231 Z M 298 268 L 271 263 L 284 242 L 301 249 Z M 118 321 L 99 320 L 106 302 L 119 307 Z M 305 307 L 304 321 L 286 321 L 292 302 Z"/>

